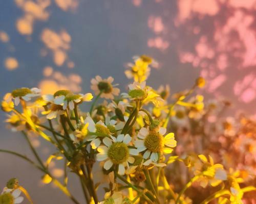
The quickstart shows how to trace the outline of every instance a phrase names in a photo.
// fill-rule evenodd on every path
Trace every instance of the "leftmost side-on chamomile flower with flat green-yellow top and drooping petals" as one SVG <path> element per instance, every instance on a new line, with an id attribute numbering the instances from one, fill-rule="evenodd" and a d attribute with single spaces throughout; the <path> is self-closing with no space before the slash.
<path id="1" fill-rule="evenodd" d="M 20 88 L 15 89 L 11 93 L 7 93 L 4 96 L 4 100 L 7 101 L 7 103 L 10 103 L 11 100 L 14 100 L 15 106 L 19 105 L 20 100 L 29 101 L 33 97 L 37 97 L 40 95 L 41 90 L 38 88 Z"/>

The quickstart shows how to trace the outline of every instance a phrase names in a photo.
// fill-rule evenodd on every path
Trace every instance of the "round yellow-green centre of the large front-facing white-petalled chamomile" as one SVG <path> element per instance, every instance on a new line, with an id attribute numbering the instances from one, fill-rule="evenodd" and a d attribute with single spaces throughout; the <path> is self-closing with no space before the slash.
<path id="1" fill-rule="evenodd" d="M 121 164 L 127 161 L 129 149 L 123 142 L 115 142 L 108 150 L 108 157 L 114 164 Z"/>

